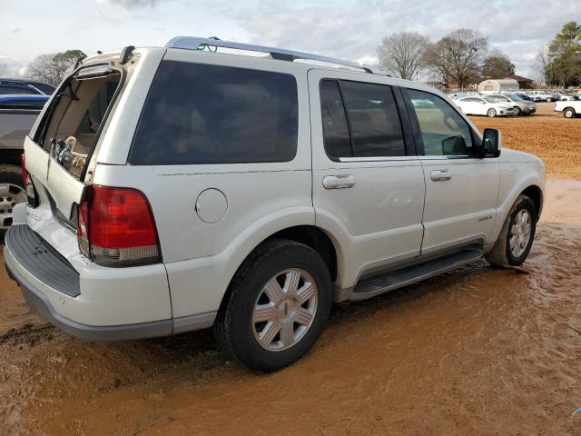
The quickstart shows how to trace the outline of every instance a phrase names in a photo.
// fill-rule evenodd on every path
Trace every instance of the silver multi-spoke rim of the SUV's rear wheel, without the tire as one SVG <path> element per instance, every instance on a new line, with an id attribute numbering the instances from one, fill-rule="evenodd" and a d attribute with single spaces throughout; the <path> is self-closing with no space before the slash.
<path id="1" fill-rule="evenodd" d="M 317 285 L 309 272 L 292 268 L 277 273 L 254 303 L 254 339 L 270 352 L 291 348 L 309 331 L 317 302 Z"/>

